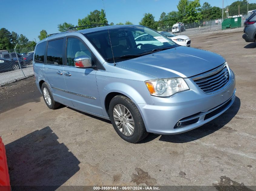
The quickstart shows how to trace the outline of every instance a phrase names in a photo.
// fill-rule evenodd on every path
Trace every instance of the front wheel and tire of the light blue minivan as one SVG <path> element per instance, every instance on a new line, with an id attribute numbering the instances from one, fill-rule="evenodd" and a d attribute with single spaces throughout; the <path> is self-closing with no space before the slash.
<path id="1" fill-rule="evenodd" d="M 128 117 L 127 116 L 125 117 L 125 115 L 122 115 L 121 112 L 120 112 L 121 115 L 118 116 L 117 113 L 118 111 L 120 111 L 118 110 L 118 108 L 122 106 L 125 107 L 124 113 L 129 112 L 131 116 L 128 113 L 127 114 Z M 146 131 L 145 124 L 143 122 L 143 119 L 141 117 L 141 114 L 138 108 L 128 97 L 125 97 L 122 95 L 115 96 L 110 101 L 108 113 L 115 131 L 125 141 L 130 143 L 137 143 L 148 136 L 148 132 Z M 115 115 L 115 119 L 114 119 L 114 115 Z M 131 124 L 132 120 L 134 125 Z M 120 125 L 118 126 L 118 124 Z M 126 128 L 120 128 L 122 126 L 121 124 L 122 125 L 124 124 Z M 133 131 L 131 126 L 133 126 Z"/>

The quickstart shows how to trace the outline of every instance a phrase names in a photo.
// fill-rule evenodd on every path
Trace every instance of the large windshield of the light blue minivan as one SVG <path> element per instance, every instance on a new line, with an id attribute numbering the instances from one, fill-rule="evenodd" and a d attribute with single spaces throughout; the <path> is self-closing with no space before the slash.
<path id="1" fill-rule="evenodd" d="M 167 37 L 144 26 L 109 28 L 109 35 L 108 30 L 84 35 L 105 61 L 110 63 L 113 63 L 114 59 L 115 62 L 123 61 L 178 46 Z"/>

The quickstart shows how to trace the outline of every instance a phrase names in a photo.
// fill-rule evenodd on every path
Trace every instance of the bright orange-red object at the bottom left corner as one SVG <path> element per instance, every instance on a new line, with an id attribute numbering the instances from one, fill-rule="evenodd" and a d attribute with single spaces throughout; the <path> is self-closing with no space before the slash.
<path id="1" fill-rule="evenodd" d="M 10 191 L 10 177 L 5 154 L 5 145 L 0 137 L 0 190 Z"/>

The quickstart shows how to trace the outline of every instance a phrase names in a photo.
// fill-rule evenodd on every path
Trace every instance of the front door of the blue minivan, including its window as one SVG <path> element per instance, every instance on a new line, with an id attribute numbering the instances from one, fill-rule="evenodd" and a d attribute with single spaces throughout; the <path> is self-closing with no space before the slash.
<path id="1" fill-rule="evenodd" d="M 89 56 L 91 51 L 78 38 L 67 39 L 64 79 L 69 97 L 74 107 L 98 115 L 102 114 L 102 107 L 96 83 L 96 70 L 92 68 L 76 68 L 74 59 L 78 56 Z"/>

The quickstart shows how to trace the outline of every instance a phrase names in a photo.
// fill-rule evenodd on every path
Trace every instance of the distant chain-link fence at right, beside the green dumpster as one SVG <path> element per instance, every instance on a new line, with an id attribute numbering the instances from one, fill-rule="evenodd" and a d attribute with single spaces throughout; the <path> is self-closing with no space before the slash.
<path id="1" fill-rule="evenodd" d="M 243 15 L 241 17 L 241 27 L 244 25 L 244 21 L 249 17 L 249 15 Z M 217 18 L 214 20 L 208 20 L 208 21 L 200 21 L 200 22 L 194 22 L 190 24 L 184 24 L 185 31 L 179 32 L 181 35 L 191 34 L 191 33 L 203 33 L 208 32 L 212 30 L 221 30 L 221 24 L 222 19 Z M 166 31 L 171 32 L 172 26 L 159 28 L 158 31 Z"/>

